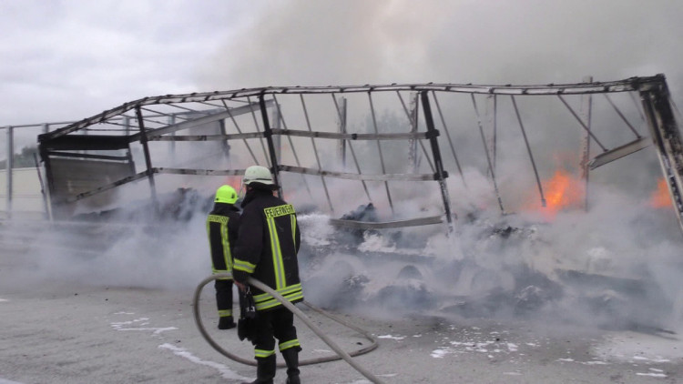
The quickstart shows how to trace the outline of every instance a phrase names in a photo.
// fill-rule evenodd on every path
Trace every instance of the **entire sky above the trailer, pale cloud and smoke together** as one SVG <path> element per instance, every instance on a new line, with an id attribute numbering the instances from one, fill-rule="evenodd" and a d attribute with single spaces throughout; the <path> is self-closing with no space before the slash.
<path id="1" fill-rule="evenodd" d="M 255 86 L 664 73 L 678 100 L 682 16 L 676 0 L 0 0 L 0 126 Z"/>

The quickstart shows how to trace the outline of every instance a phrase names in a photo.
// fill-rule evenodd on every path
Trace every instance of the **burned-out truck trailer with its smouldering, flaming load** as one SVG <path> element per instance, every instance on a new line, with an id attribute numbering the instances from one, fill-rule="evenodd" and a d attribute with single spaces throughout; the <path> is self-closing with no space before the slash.
<path id="1" fill-rule="evenodd" d="M 215 187 L 239 189 L 246 167 L 269 167 L 306 229 L 306 283 L 333 291 L 319 304 L 490 316 L 572 298 L 635 324 L 629 299 L 676 300 L 643 268 L 652 256 L 628 247 L 683 230 L 677 113 L 662 75 L 278 86 L 145 97 L 38 141 L 55 220 L 115 208 L 163 217 L 178 201 L 167 197 L 190 189 L 178 196 L 199 196 L 201 211 Z M 632 196 L 603 208 L 607 184 Z M 667 225 L 628 245 L 601 237 L 615 232 L 615 219 L 600 219 L 618 217 L 618 204 L 647 206 L 627 225 L 653 212 Z M 585 237 L 572 234 L 582 227 Z"/>

